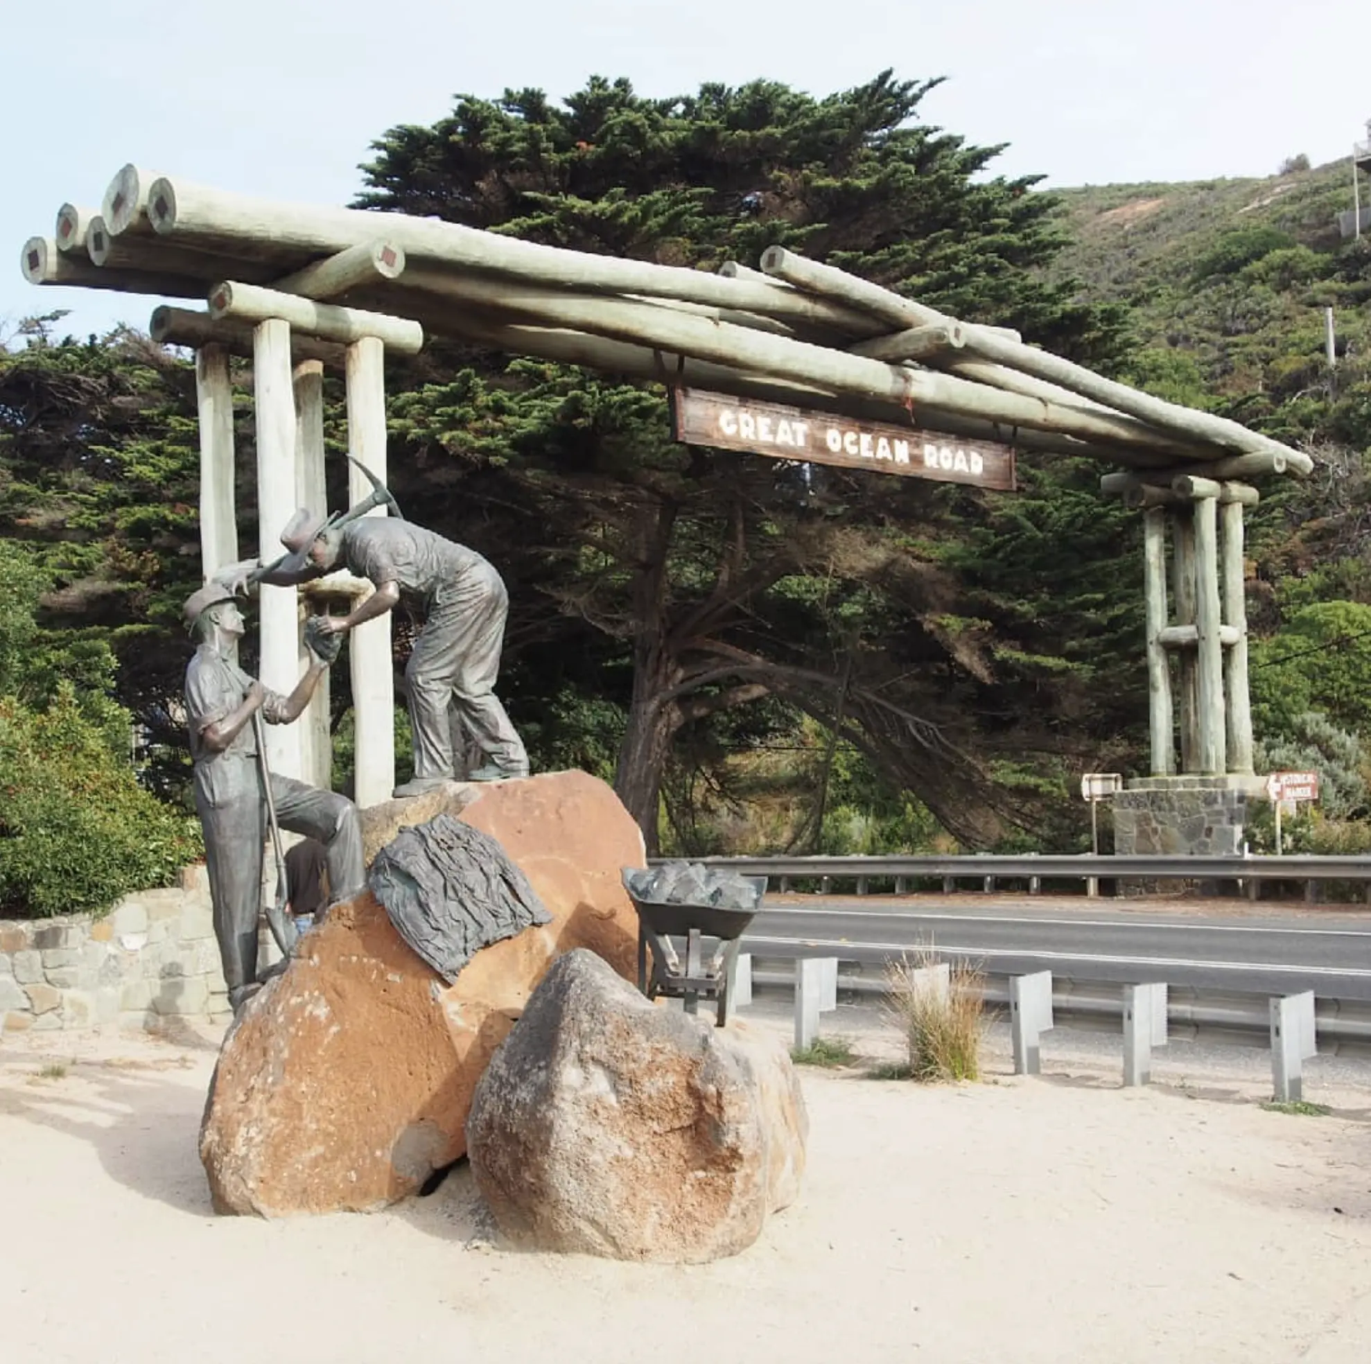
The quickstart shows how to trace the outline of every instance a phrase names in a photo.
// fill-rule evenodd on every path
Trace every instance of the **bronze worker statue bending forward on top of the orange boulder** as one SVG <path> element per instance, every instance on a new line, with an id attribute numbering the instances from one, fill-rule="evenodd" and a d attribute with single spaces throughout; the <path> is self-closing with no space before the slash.
<path id="1" fill-rule="evenodd" d="M 347 633 L 402 599 L 424 614 L 404 669 L 414 779 L 396 796 L 421 795 L 457 780 L 463 732 L 484 762 L 469 781 L 528 776 L 528 754 L 495 695 L 509 594 L 499 573 L 474 550 L 395 517 L 358 517 L 333 525 L 302 507 L 281 532 L 291 551 L 266 569 L 229 570 L 233 587 L 247 581 L 289 587 L 345 568 L 376 591 L 347 617 L 321 617 L 319 629 Z"/>

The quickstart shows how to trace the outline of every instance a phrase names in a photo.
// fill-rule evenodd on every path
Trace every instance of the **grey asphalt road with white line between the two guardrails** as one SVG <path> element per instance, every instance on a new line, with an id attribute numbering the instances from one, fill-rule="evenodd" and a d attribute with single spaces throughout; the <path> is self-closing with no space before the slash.
<path id="1" fill-rule="evenodd" d="M 744 950 L 754 957 L 838 957 L 879 968 L 932 945 L 969 957 L 990 975 L 1053 975 L 1090 982 L 1165 980 L 1252 994 L 1371 1001 L 1371 916 L 1320 918 L 1271 914 L 1198 917 L 1145 910 L 1080 909 L 1047 901 L 1004 905 L 880 902 L 825 897 L 772 905 L 753 920 Z"/>

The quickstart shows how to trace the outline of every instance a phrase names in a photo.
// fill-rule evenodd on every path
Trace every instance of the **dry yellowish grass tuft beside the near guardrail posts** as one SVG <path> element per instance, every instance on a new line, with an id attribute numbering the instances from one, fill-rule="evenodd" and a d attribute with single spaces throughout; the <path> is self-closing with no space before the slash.
<path id="1" fill-rule="evenodd" d="M 958 960 L 936 979 L 938 955 L 924 949 L 886 966 L 887 1008 L 905 1035 L 910 1079 L 979 1080 L 980 1045 L 990 1017 L 984 1005 L 986 973 Z"/>

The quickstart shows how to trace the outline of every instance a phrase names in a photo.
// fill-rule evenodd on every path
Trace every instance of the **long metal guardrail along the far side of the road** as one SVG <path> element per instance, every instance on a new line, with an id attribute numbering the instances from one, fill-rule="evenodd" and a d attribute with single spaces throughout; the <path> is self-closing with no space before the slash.
<path id="1" fill-rule="evenodd" d="M 654 865 L 679 858 L 651 858 Z M 999 854 L 879 857 L 694 857 L 705 866 L 787 880 L 1185 880 L 1363 881 L 1371 857 L 1157 857 L 1119 854 Z"/>

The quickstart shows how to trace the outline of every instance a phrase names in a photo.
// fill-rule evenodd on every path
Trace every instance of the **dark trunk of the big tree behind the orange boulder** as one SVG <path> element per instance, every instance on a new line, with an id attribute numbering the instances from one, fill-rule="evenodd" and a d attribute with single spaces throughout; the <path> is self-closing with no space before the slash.
<path id="1" fill-rule="evenodd" d="M 643 506 L 633 528 L 633 699 L 614 773 L 614 791 L 643 831 L 648 857 L 657 854 L 662 772 L 683 718 L 679 703 L 664 699 L 681 676 L 666 628 L 666 558 L 675 522 L 676 507 L 658 502 Z"/>

